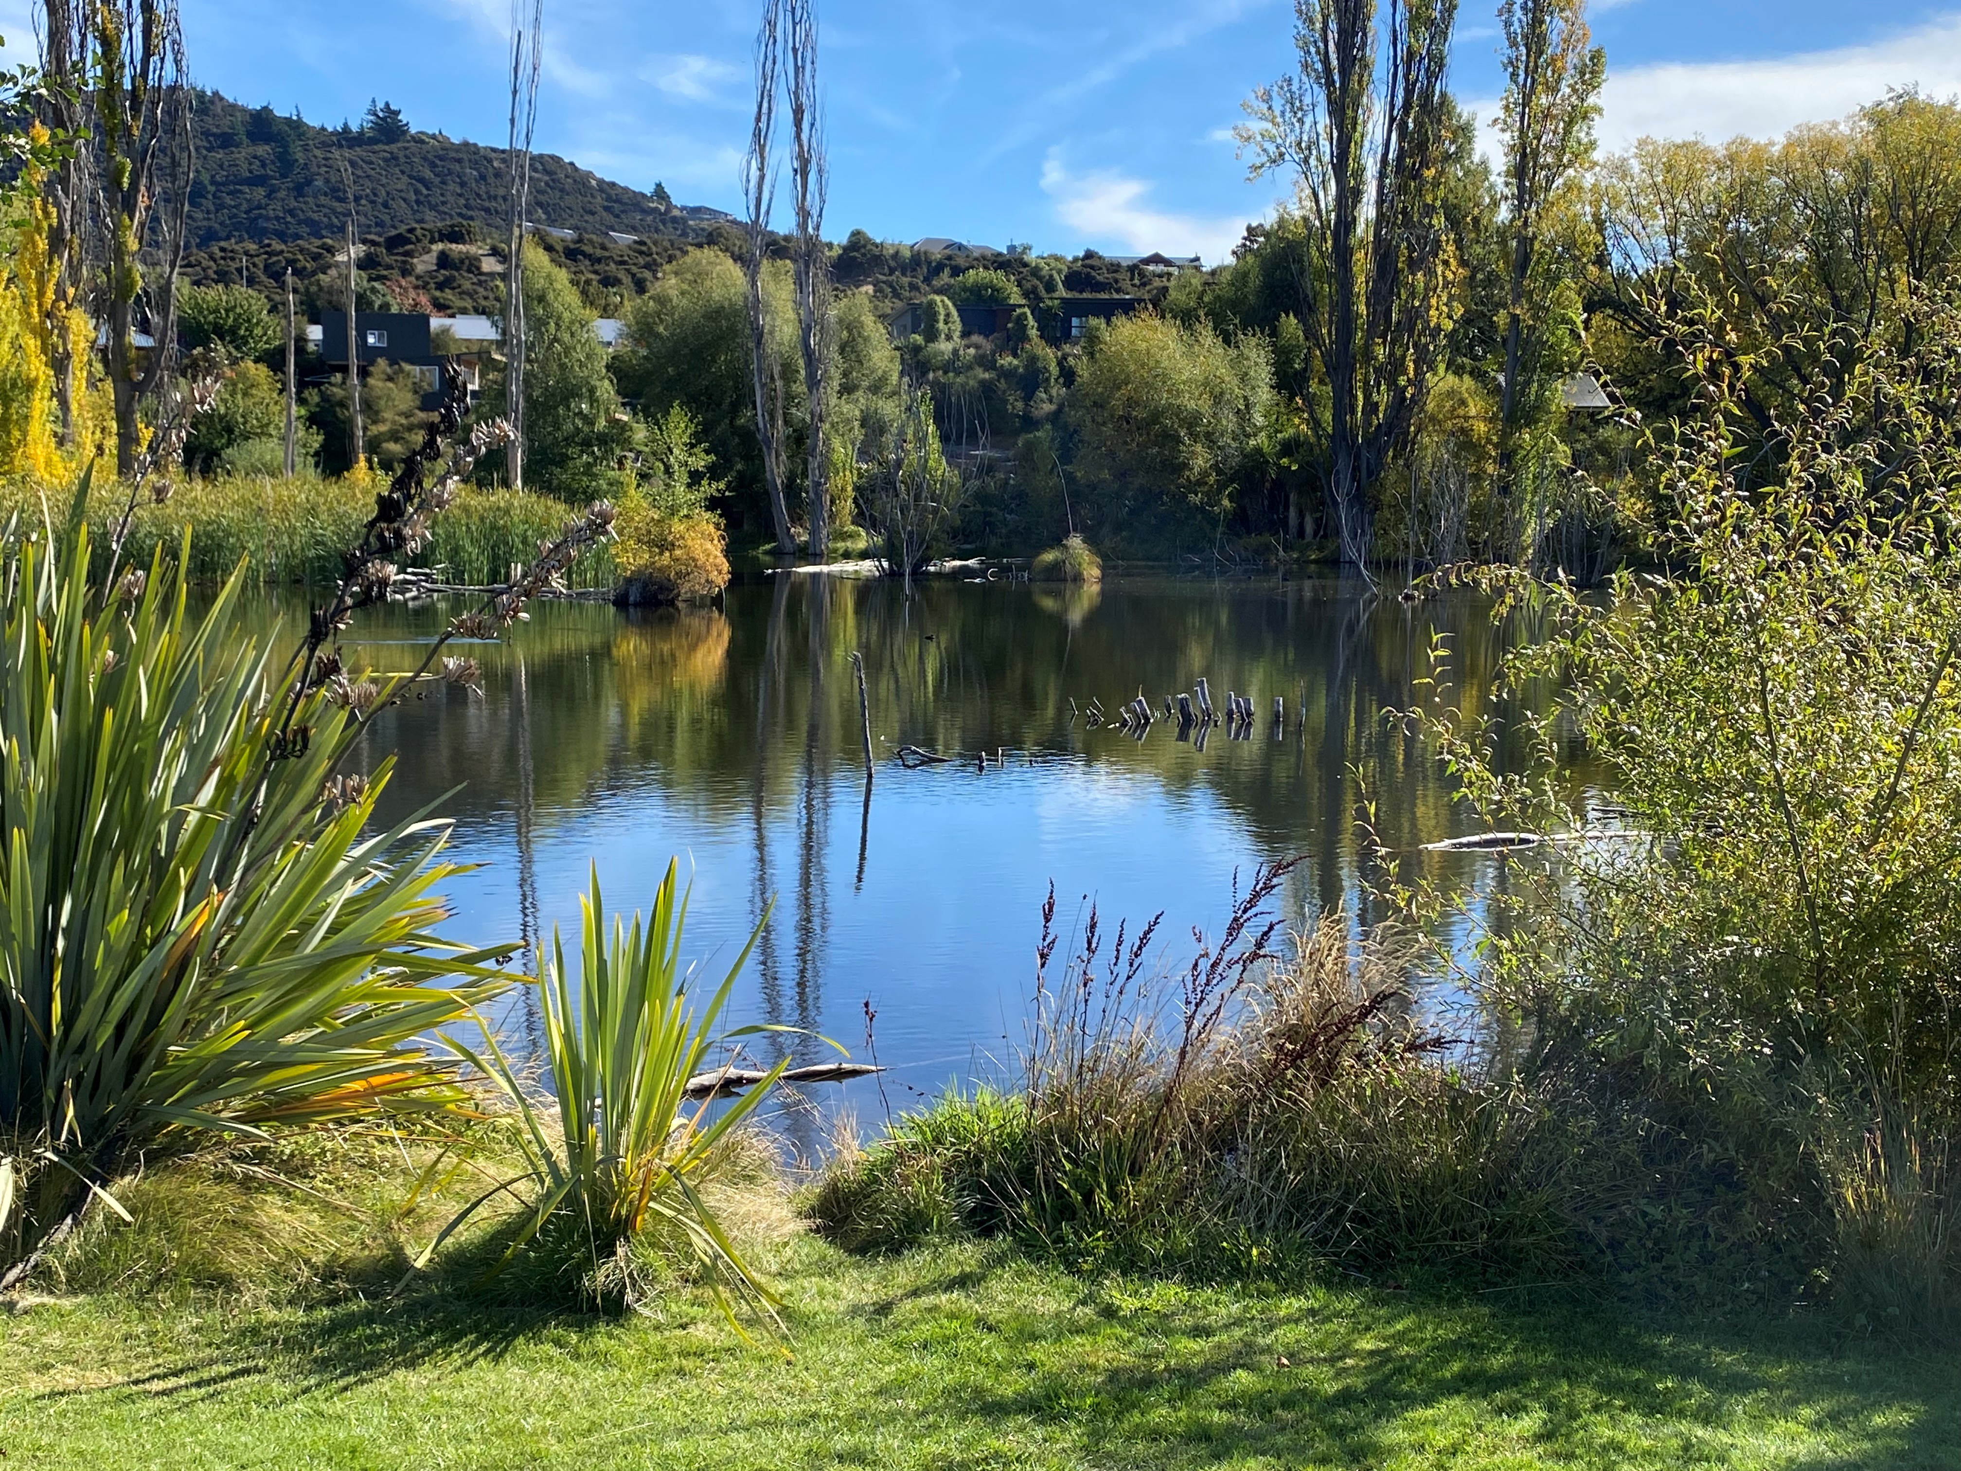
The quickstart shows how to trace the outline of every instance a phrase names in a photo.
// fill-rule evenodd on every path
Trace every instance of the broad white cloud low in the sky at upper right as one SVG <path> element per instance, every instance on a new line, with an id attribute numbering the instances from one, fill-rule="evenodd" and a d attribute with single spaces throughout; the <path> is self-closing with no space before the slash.
<path id="1" fill-rule="evenodd" d="M 1961 92 L 1961 14 L 1941 16 L 1883 41 L 1751 61 L 1665 61 L 1614 71 L 1600 94 L 1600 147 L 1639 137 L 1777 137 L 1806 122 L 1832 122 L 1888 88 L 1934 96 Z M 1494 98 L 1469 104 L 1494 155 Z"/>

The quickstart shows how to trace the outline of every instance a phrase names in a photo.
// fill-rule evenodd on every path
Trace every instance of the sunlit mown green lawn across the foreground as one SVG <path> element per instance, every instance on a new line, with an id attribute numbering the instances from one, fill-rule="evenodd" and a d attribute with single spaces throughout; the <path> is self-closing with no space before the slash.
<path id="1" fill-rule="evenodd" d="M 988 1247 L 773 1265 L 788 1355 L 700 1302 L 39 1302 L 0 1316 L 0 1467 L 1961 1467 L 1953 1355 Z"/>

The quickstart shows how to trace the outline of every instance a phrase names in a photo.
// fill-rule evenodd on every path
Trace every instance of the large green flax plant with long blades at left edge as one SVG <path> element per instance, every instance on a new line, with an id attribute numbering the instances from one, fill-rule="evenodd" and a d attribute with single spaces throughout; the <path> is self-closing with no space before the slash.
<path id="1" fill-rule="evenodd" d="M 192 618 L 182 557 L 88 567 L 78 514 L 0 549 L 0 1287 L 145 1151 L 455 1100 L 418 1038 L 502 985 L 431 934 L 447 830 L 335 777 L 353 710 L 308 694 L 267 763 L 237 579 Z"/>

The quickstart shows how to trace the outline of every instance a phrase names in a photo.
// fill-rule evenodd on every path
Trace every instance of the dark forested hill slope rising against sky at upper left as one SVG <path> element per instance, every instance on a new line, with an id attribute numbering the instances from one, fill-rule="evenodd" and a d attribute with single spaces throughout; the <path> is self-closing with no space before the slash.
<path id="1" fill-rule="evenodd" d="M 410 131 L 386 104 L 361 127 L 316 127 L 273 108 L 245 108 L 202 92 L 198 165 L 190 190 L 190 243 L 302 241 L 341 235 L 353 177 L 363 235 L 471 220 L 492 237 L 506 228 L 504 149 Z M 659 190 L 659 186 L 655 186 Z M 531 159 L 531 210 L 559 229 L 698 239 L 704 226 L 659 194 L 600 178 L 567 159 Z"/>

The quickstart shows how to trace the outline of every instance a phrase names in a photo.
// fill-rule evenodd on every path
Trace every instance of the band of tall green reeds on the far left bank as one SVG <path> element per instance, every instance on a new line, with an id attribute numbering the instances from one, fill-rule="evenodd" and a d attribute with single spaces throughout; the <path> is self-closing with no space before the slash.
<path id="1" fill-rule="evenodd" d="M 249 563 L 257 583 L 333 583 L 341 575 L 341 553 L 361 535 L 361 524 L 375 510 L 377 481 L 359 486 L 341 479 L 267 477 L 184 479 L 171 498 L 137 508 L 129 528 L 129 551 L 147 563 L 155 545 L 175 553 L 182 528 L 190 526 L 190 575 L 198 581 L 229 577 Z M 67 492 L 51 498 L 57 520 Z M 106 528 L 122 512 L 122 490 L 102 486 L 92 496 L 90 524 L 106 545 Z M 39 490 L 14 482 L 0 488 L 0 514 L 37 518 Z M 529 563 L 537 543 L 555 537 L 573 506 L 535 494 L 467 490 L 435 522 L 435 541 L 412 563 L 443 565 L 451 581 L 502 583 L 510 565 Z M 575 586 L 612 586 L 614 565 L 604 547 L 580 557 L 573 567 Z"/>

